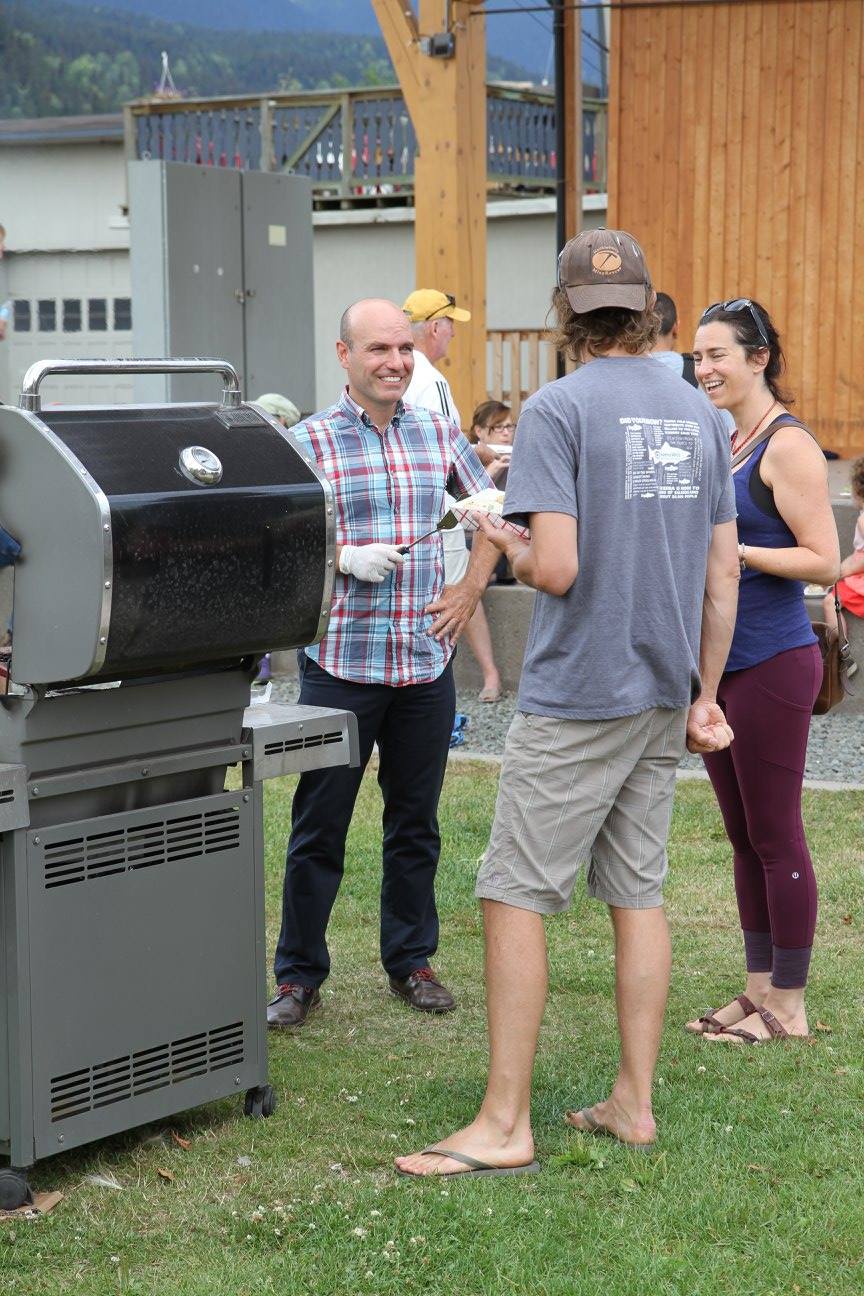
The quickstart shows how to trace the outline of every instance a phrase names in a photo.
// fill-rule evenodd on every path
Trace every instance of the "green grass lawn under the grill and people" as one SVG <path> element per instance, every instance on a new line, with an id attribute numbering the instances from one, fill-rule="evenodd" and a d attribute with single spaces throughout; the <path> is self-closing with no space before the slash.
<path id="1" fill-rule="evenodd" d="M 681 1029 L 741 989 L 729 849 L 710 788 L 687 783 L 670 848 L 675 963 L 657 1151 L 589 1140 L 562 1122 L 566 1107 L 605 1095 L 617 1059 L 609 920 L 580 894 L 548 924 L 552 989 L 534 1104 L 543 1172 L 461 1182 L 392 1173 L 395 1152 L 453 1130 L 482 1095 L 473 879 L 495 785 L 494 769 L 460 763 L 442 801 L 437 966 L 459 1011 L 429 1019 L 386 993 L 380 801 L 368 778 L 330 929 L 324 1008 L 301 1036 L 271 1038 L 276 1115 L 250 1122 L 237 1102 L 216 1103 L 41 1163 L 34 1187 L 58 1188 L 65 1200 L 32 1222 L 0 1221 L 3 1296 L 864 1291 L 858 793 L 806 800 L 821 881 L 812 1042 L 723 1048 Z M 271 949 L 290 797 L 290 780 L 268 785 Z M 120 1188 L 92 1185 L 93 1174 Z"/>

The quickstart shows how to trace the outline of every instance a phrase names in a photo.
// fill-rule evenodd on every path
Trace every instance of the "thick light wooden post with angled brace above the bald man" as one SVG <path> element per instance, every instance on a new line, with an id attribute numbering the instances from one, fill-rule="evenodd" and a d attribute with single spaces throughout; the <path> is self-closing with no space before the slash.
<path id="1" fill-rule="evenodd" d="M 482 0 L 372 0 L 417 135 L 415 283 L 452 293 L 472 312 L 440 363 L 462 422 L 486 398 L 486 27 Z M 443 31 L 452 58 L 424 54 L 421 36 Z"/>

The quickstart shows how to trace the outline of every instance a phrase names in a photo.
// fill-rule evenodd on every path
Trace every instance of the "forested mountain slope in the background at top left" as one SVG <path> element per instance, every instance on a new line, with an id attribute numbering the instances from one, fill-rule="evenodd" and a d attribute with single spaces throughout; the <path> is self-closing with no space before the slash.
<path id="1" fill-rule="evenodd" d="M 207 0 L 215 8 L 222 0 Z M 264 4 L 273 0 L 264 0 Z M 341 3 L 341 0 L 337 0 Z M 185 95 L 395 84 L 381 36 L 330 31 L 219 31 L 123 8 L 63 0 L 0 3 L 0 117 L 113 113 L 152 93 L 161 52 Z M 281 5 L 299 9 L 304 0 Z M 176 0 L 176 13 L 189 0 Z M 326 5 L 319 5 L 326 8 Z M 490 76 L 526 79 L 490 60 Z"/>

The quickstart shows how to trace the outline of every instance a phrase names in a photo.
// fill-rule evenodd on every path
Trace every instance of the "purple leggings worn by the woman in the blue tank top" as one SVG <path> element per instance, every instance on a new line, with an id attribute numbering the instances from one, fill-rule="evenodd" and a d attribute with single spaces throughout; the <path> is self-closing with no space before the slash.
<path id="1" fill-rule="evenodd" d="M 779 989 L 807 984 L 816 928 L 801 787 L 821 678 L 816 644 L 725 674 L 718 701 L 734 741 L 705 757 L 734 854 L 747 971 L 771 972 Z"/>

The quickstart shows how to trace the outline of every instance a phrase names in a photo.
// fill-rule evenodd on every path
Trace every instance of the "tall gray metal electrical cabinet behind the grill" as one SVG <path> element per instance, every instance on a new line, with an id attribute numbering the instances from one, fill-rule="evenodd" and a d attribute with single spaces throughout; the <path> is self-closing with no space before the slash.
<path id="1" fill-rule="evenodd" d="M 135 354 L 220 355 L 250 399 L 315 408 L 312 185 L 306 176 L 130 162 Z M 137 402 L 201 400 L 206 376 L 136 378 Z"/>

